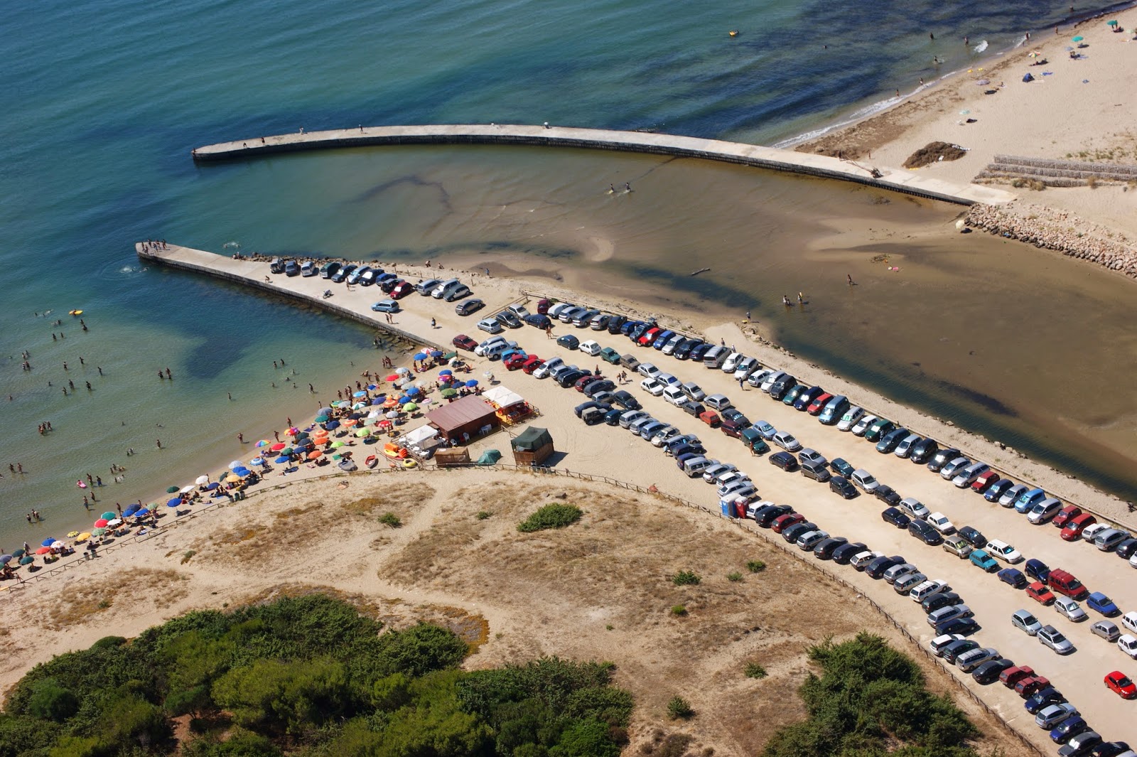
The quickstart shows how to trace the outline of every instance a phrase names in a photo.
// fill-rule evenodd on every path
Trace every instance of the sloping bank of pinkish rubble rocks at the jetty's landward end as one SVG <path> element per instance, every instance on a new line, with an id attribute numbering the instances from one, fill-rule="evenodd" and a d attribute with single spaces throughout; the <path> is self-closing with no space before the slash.
<path id="1" fill-rule="evenodd" d="M 1137 249 L 1120 233 L 1072 213 L 1036 205 L 972 205 L 964 223 L 998 236 L 1056 250 L 1137 278 Z"/>

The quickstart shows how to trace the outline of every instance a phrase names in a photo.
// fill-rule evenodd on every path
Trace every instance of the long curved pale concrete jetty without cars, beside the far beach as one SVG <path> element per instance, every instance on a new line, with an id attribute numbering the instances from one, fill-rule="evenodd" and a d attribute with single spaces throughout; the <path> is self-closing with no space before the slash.
<path id="1" fill-rule="evenodd" d="M 857 182 L 895 192 L 915 194 L 958 205 L 982 202 L 1004 205 L 1015 196 L 979 184 L 955 184 L 904 168 L 878 168 L 850 160 L 794 150 L 677 136 L 648 132 L 621 132 L 607 128 L 571 126 L 528 126 L 518 124 L 438 124 L 422 126 L 358 126 L 324 132 L 297 132 L 254 136 L 232 142 L 207 144 L 193 150 L 193 159 L 240 160 L 275 152 L 327 150 L 332 148 L 390 144 L 524 144 L 537 147 L 584 148 L 650 152 L 680 158 L 702 158 L 737 163 L 770 170 L 786 170 L 823 178 Z"/>

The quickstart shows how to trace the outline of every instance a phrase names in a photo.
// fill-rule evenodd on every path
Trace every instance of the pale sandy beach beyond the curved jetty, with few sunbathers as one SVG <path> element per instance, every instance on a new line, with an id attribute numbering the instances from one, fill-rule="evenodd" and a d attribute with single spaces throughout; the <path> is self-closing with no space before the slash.
<path id="1" fill-rule="evenodd" d="M 1112 19 L 1124 31 L 1113 32 L 1106 25 Z M 840 152 L 865 165 L 898 168 L 924 145 L 947 142 L 963 148 L 965 156 L 913 170 L 962 183 L 971 182 L 997 155 L 1137 164 L 1137 82 L 1130 76 L 1137 61 L 1135 26 L 1137 9 L 1130 8 L 1056 33 L 1039 31 L 1016 50 L 928 82 L 894 108 L 796 149 Z M 1074 36 L 1084 39 L 1074 42 Z M 1078 57 L 1071 58 L 1071 52 Z M 1046 63 L 1038 65 L 1041 60 Z M 1027 74 L 1032 81 L 1022 81 Z M 1126 182 L 1044 191 L 998 185 L 1018 192 L 1020 203 L 1069 214 L 1068 226 L 1081 219 L 1112 232 L 1114 239 L 1124 236 L 1130 247 L 1137 240 L 1137 192 Z"/>

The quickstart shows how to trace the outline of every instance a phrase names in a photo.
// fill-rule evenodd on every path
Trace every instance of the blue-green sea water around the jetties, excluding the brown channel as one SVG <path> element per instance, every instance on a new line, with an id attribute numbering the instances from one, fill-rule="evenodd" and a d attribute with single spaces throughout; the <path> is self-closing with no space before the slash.
<path id="1" fill-rule="evenodd" d="M 972 47 L 986 40 L 989 55 L 1067 8 L 1021 6 L 921 1 L 835 13 L 831 3 L 788 0 L 712 8 L 48 0 L 7 8 L 0 546 L 86 523 L 74 485 L 86 473 L 108 483 L 105 504 L 146 498 L 235 457 L 238 431 L 264 435 L 282 416 L 314 407 L 308 382 L 339 385 L 377 361 L 360 327 L 142 269 L 132 243 L 421 253 L 405 227 L 399 243 L 383 239 L 382 214 L 393 221 L 399 208 L 413 210 L 429 188 L 388 188 L 376 216 L 351 223 L 345 188 L 365 193 L 374 182 L 350 160 L 198 167 L 194 145 L 300 126 L 490 120 L 773 143 L 965 66 L 978 53 L 964 34 Z M 932 56 L 945 63 L 932 66 Z M 390 160 L 392 177 L 420 167 Z M 474 177 L 484 167 L 459 166 Z M 345 197 L 334 209 L 323 202 L 331 190 Z M 456 226 L 434 244 L 445 251 L 467 241 Z M 90 331 L 66 315 L 70 308 L 84 310 Z M 55 318 L 64 323 L 52 326 Z M 32 372 L 20 369 L 23 350 Z M 282 357 L 299 389 L 272 367 Z M 174 381 L 159 381 L 167 366 Z M 78 390 L 65 397 L 68 380 Z M 42 421 L 51 434 L 36 433 Z M 128 448 L 139 454 L 127 458 Z M 8 463 L 27 473 L 8 475 Z M 127 466 L 125 483 L 110 485 L 111 463 Z M 24 513 L 33 507 L 45 523 L 28 531 Z"/>

